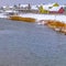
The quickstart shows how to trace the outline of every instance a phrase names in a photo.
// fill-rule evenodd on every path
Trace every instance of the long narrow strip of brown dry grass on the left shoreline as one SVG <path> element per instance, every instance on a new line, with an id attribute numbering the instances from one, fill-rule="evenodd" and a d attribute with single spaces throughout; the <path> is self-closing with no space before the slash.
<path id="1" fill-rule="evenodd" d="M 24 22 L 35 22 L 36 20 L 33 19 L 33 18 L 22 18 L 22 16 L 18 16 L 18 15 L 12 15 L 9 18 L 10 20 L 13 20 L 13 21 L 24 21 Z"/>

